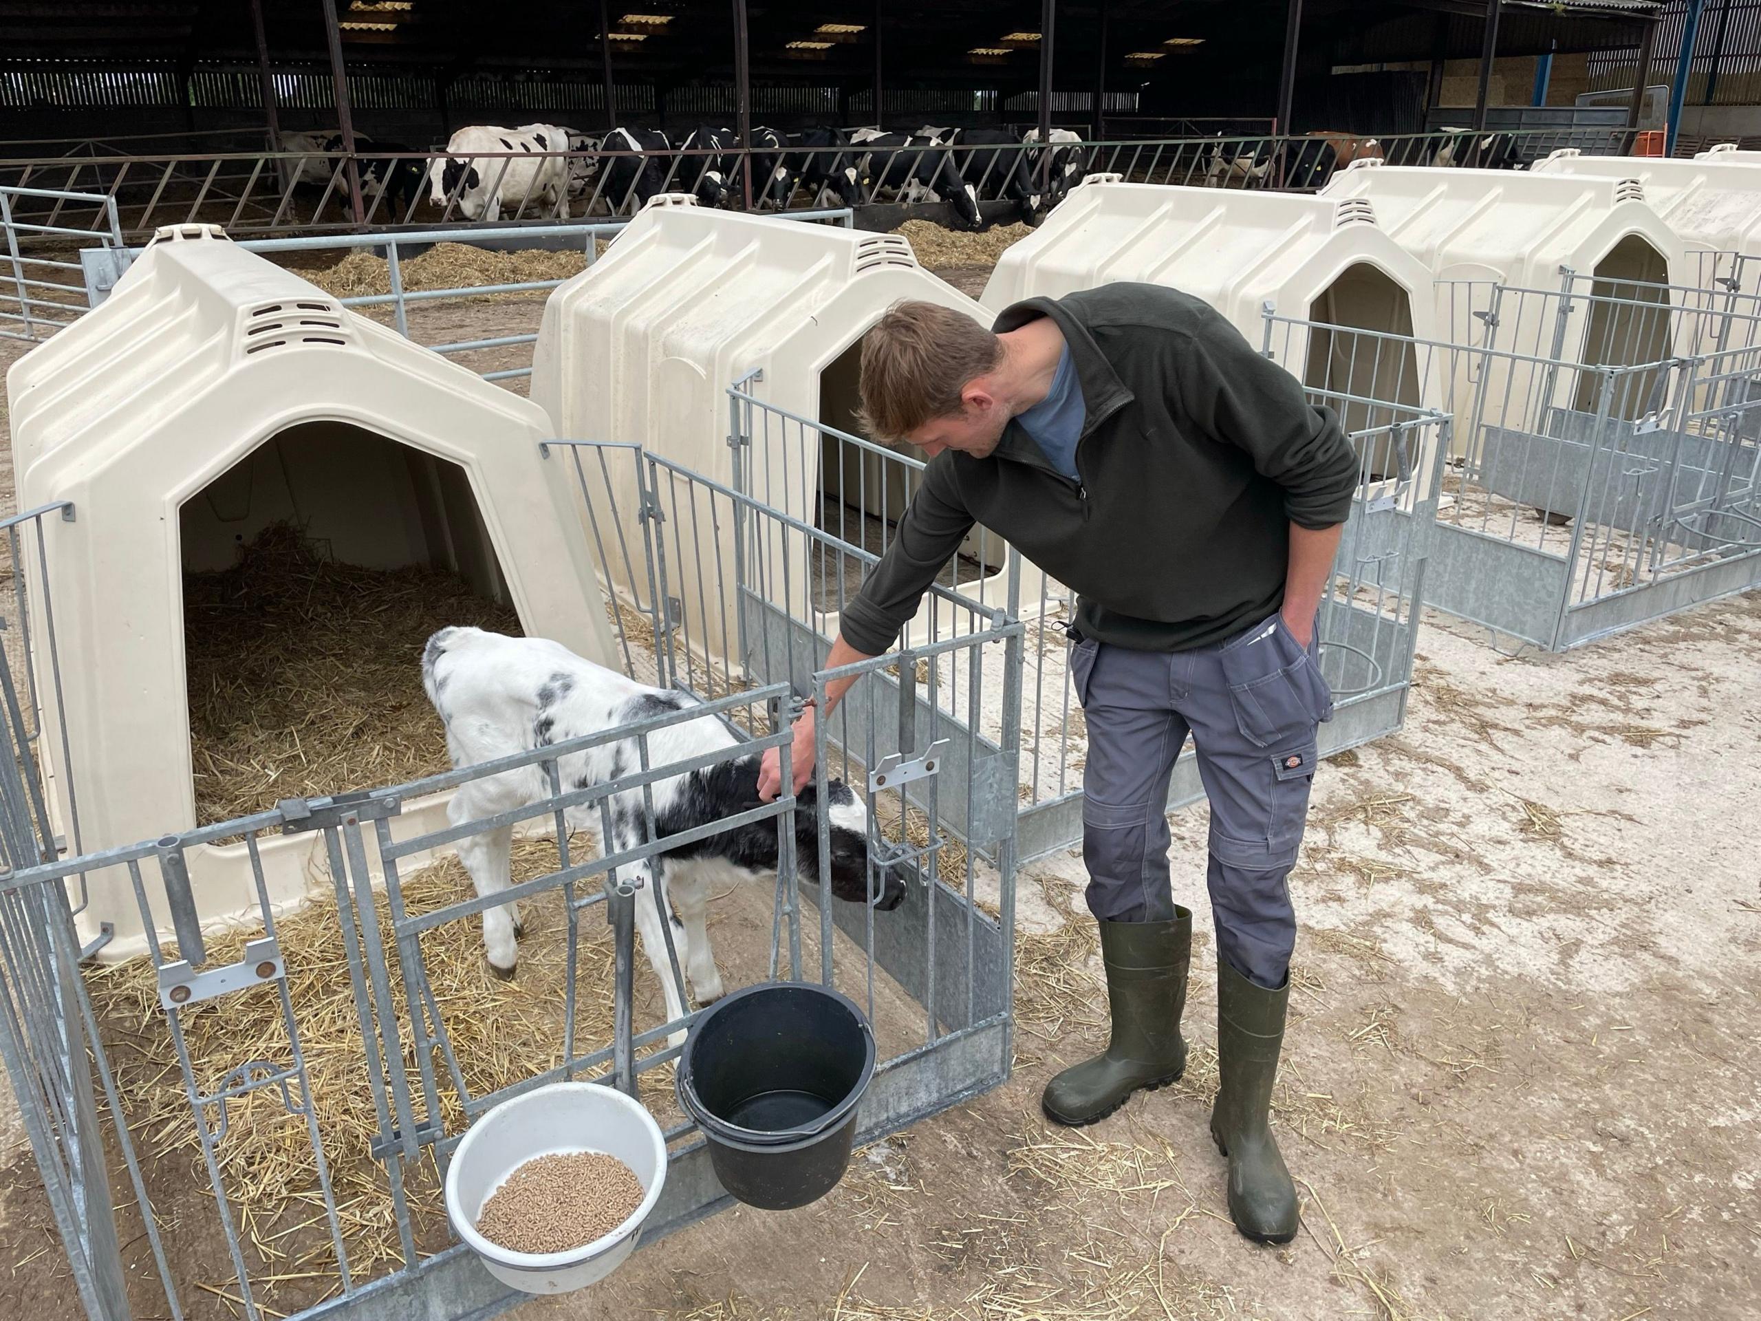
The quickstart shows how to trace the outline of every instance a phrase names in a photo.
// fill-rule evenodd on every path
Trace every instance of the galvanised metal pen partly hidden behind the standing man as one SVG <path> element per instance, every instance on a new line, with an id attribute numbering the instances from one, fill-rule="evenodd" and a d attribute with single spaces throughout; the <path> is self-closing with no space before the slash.
<path id="1" fill-rule="evenodd" d="M 1342 414 L 1359 461 L 1319 622 L 1321 669 L 1337 699 L 1335 719 L 1321 726 L 1321 752 L 1328 756 L 1391 733 L 1405 719 L 1451 419 L 1425 400 L 1430 365 L 1414 340 L 1268 315 L 1268 358 L 1294 368 L 1314 359 L 1312 343 L 1326 345 L 1337 366 L 1308 379 L 1308 396 Z M 814 555 L 801 544 L 780 558 L 792 571 L 787 581 L 770 578 L 757 585 L 763 599 L 743 602 L 745 634 L 734 655 L 755 678 L 780 678 L 789 669 L 777 655 L 824 646 L 836 634 L 838 615 L 891 544 L 925 465 L 903 449 L 766 403 L 761 384 L 745 379 L 729 389 L 736 483 L 819 535 Z M 826 544 L 836 544 L 838 553 L 824 555 L 819 548 Z M 1074 594 L 984 528 L 974 528 L 937 581 L 939 592 L 1027 624 L 1020 710 L 974 703 L 951 713 L 972 722 L 979 738 L 995 738 L 1004 720 L 1020 722 L 1020 777 L 993 789 L 1018 814 L 1018 854 L 1037 858 L 1074 844 L 1081 838 L 1088 749 L 1065 664 L 1064 627 L 1074 618 Z M 932 594 L 905 636 L 914 646 L 930 645 L 963 627 L 969 618 L 942 609 Z M 1197 761 L 1187 749 L 1175 766 L 1168 807 L 1201 796 Z"/>

